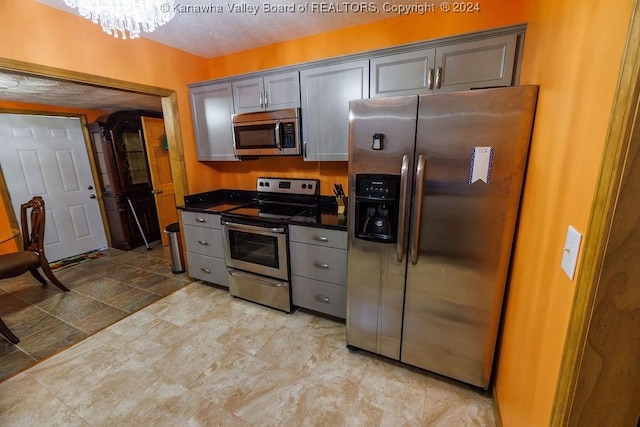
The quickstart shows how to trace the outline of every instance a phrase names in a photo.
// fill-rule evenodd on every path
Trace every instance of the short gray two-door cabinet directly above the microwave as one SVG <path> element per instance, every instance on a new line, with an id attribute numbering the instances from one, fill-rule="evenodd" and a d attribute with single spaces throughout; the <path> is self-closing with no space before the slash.
<path id="1" fill-rule="evenodd" d="M 232 83 L 236 113 L 300 107 L 300 78 L 297 71 Z"/>

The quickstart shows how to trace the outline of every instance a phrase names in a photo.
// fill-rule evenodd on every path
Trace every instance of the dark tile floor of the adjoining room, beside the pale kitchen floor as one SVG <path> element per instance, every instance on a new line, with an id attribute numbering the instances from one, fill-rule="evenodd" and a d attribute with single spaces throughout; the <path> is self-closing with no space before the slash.
<path id="1" fill-rule="evenodd" d="M 0 382 L 190 283 L 171 272 L 168 248 L 151 247 L 107 249 L 55 271 L 70 292 L 29 273 L 0 280 L 0 317 L 20 338 L 13 345 L 0 335 Z"/>

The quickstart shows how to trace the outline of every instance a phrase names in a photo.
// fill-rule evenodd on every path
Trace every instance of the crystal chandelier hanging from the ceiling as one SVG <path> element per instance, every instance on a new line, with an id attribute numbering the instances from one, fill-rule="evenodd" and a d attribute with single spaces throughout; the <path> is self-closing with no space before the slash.
<path id="1" fill-rule="evenodd" d="M 105 33 L 123 39 L 150 33 L 173 18 L 173 0 L 64 0 L 81 16 L 100 24 Z M 128 32 L 128 34 L 127 34 Z"/>

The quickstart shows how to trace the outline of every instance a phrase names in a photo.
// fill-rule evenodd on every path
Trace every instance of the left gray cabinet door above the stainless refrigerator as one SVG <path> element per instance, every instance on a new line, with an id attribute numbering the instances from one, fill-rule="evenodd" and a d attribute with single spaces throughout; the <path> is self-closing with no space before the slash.
<path id="1" fill-rule="evenodd" d="M 433 92 L 435 49 L 371 60 L 371 98 Z"/>

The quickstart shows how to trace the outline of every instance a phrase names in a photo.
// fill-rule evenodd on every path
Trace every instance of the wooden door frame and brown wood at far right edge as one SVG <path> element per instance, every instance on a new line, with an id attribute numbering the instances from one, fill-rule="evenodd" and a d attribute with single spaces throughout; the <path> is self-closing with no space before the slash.
<path id="1" fill-rule="evenodd" d="M 549 424 L 553 426 L 585 422 L 598 425 L 627 425 L 630 422 L 633 424 L 628 425 L 635 426 L 640 411 L 637 401 L 640 367 L 607 373 L 607 366 L 627 365 L 628 362 L 638 366 L 640 360 L 640 345 L 626 341 L 633 340 L 637 333 L 625 327 L 630 319 L 634 319 L 633 312 L 640 310 L 637 298 L 635 301 L 628 298 L 629 287 L 640 286 L 637 266 L 640 264 L 637 251 L 640 247 L 640 201 L 630 189 L 632 183 L 640 179 L 638 40 L 640 4 L 636 0 L 576 281 Z M 621 204 L 627 207 L 630 204 L 634 209 L 617 209 Z M 630 249 L 630 246 L 636 248 L 632 256 L 628 256 L 628 250 L 620 250 Z M 613 280 L 616 274 L 619 276 Z M 623 276 L 624 280 L 620 280 Z M 635 303 L 631 309 L 619 308 L 623 292 L 627 293 L 627 304 Z M 605 350 L 601 344 L 603 337 L 611 340 L 608 344 L 616 345 L 607 345 Z M 620 408 L 630 412 L 615 413 Z M 619 424 L 621 421 L 624 424 Z"/>

